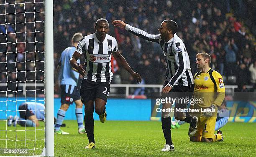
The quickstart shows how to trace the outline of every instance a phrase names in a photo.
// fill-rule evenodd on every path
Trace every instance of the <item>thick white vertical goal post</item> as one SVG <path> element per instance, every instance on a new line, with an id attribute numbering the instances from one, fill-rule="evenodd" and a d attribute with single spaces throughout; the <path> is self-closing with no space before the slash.
<path id="1" fill-rule="evenodd" d="M 53 1 L 44 1 L 45 28 L 45 148 L 46 156 L 54 156 L 54 37 Z"/>

